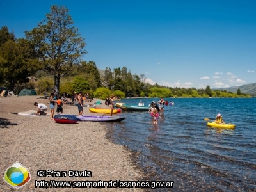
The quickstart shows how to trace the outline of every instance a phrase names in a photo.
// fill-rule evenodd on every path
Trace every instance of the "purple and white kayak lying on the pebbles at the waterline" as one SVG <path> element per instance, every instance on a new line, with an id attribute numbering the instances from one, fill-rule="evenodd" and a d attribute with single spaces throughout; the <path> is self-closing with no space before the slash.
<path id="1" fill-rule="evenodd" d="M 98 116 L 98 115 L 79 115 L 77 119 L 80 121 L 90 121 L 90 122 L 121 122 L 125 119 L 122 116 Z"/>

